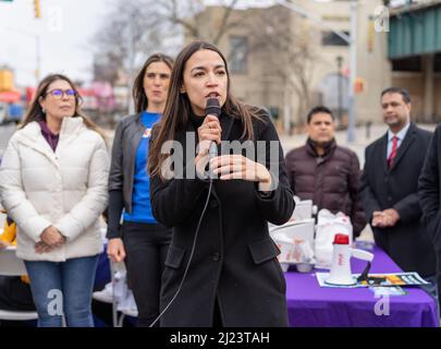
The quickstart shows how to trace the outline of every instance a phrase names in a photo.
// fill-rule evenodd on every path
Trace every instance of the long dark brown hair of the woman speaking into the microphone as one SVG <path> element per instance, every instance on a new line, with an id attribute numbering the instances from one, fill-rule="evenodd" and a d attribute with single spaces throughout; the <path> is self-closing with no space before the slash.
<path id="1" fill-rule="evenodd" d="M 253 140 L 253 119 L 261 119 L 261 109 L 244 105 L 232 96 L 230 73 L 225 57 L 222 52 L 215 45 L 207 41 L 194 41 L 187 45 L 181 50 L 174 61 L 164 112 L 161 120 L 154 128 L 148 158 L 148 171 L 150 176 L 159 174 L 162 178 L 160 169 L 169 155 L 161 154 L 161 146 L 164 142 L 174 140 L 175 132 L 185 129 L 188 122 L 192 106 L 187 94 L 181 93 L 181 86 L 183 85 L 186 62 L 199 50 L 212 50 L 219 53 L 223 60 L 228 76 L 228 86 L 226 100 L 222 106 L 222 112 L 228 117 L 242 120 L 244 127 L 242 137 Z"/>

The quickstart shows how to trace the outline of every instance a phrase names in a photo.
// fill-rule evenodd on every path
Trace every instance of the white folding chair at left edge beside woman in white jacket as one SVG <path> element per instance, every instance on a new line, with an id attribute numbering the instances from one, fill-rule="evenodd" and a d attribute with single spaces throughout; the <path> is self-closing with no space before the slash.
<path id="1" fill-rule="evenodd" d="M 0 275 L 21 276 L 27 275 L 22 260 L 15 255 L 15 248 L 0 250 Z M 38 318 L 37 312 L 10 311 L 0 309 L 0 320 L 8 321 L 29 321 Z"/>

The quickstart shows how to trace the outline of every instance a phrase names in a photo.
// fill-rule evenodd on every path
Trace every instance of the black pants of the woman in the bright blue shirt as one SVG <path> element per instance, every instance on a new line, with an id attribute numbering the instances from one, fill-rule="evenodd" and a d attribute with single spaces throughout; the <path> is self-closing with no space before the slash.
<path id="1" fill-rule="evenodd" d="M 128 287 L 138 309 L 138 327 L 149 326 L 159 315 L 161 276 L 171 242 L 171 229 L 162 225 L 124 221 Z M 159 322 L 158 322 L 159 324 Z"/>

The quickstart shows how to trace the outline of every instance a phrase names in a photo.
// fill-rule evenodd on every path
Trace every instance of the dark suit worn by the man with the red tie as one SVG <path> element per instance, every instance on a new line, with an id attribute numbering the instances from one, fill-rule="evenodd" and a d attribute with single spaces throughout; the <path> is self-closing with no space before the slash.
<path id="1" fill-rule="evenodd" d="M 436 255 L 421 224 L 418 178 L 432 133 L 411 123 L 391 168 L 387 164 L 388 134 L 366 148 L 362 202 L 368 221 L 375 210 L 395 208 L 401 219 L 391 228 L 372 228 L 376 243 L 404 272 L 436 274 Z"/>

